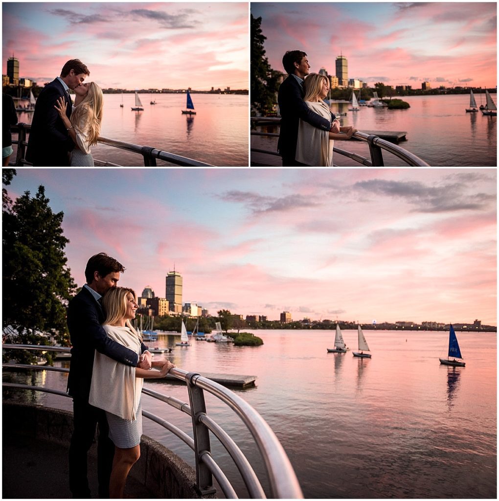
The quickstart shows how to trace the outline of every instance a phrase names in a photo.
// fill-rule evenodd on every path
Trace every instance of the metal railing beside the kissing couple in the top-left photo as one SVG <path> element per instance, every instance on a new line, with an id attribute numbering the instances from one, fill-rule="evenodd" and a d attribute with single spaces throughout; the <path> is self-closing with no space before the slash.
<path id="1" fill-rule="evenodd" d="M 11 128 L 12 132 L 18 133 L 18 139 L 13 139 L 12 143 L 17 144 L 18 150 L 16 154 L 15 163 L 10 162 L 9 165 L 13 166 L 25 166 L 32 165 L 26 160 L 26 148 L 28 146 L 27 133 L 31 130 L 30 123 L 20 122 Z M 113 146 L 114 148 L 120 148 L 122 150 L 130 151 L 132 153 L 137 153 L 142 155 L 144 166 L 155 167 L 156 159 L 163 160 L 165 162 L 172 163 L 174 165 L 180 165 L 182 167 L 213 167 L 212 165 L 204 162 L 199 162 L 198 160 L 193 160 L 192 158 L 187 158 L 180 155 L 175 155 L 174 153 L 169 153 L 167 151 L 158 150 L 152 146 L 140 146 L 138 144 L 127 143 L 125 141 L 118 141 L 117 139 L 110 139 L 107 137 L 99 137 L 98 142 L 101 144 L 107 144 L 108 146 Z M 107 161 L 102 161 L 94 159 L 95 165 L 98 166 L 115 166 L 119 167 L 114 163 Z"/>

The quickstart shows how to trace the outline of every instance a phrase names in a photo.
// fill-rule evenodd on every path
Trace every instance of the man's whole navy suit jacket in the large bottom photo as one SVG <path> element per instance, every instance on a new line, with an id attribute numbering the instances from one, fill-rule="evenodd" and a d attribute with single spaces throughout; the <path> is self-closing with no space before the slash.
<path id="1" fill-rule="evenodd" d="M 113 341 L 102 328 L 104 312 L 85 287 L 70 301 L 68 328 L 71 336 L 71 365 L 68 390 L 73 398 L 88 402 L 95 350 L 126 365 L 136 366 L 138 355 Z M 147 347 L 142 343 L 142 352 Z"/>

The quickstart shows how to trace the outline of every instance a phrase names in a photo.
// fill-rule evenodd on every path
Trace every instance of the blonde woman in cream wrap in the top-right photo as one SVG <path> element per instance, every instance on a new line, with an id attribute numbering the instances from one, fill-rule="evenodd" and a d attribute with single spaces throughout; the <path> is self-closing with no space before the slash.
<path id="1" fill-rule="evenodd" d="M 323 101 L 329 92 L 327 77 L 311 73 L 305 79 L 303 88 L 305 104 L 315 113 L 331 120 L 331 110 Z M 332 166 L 334 139 L 350 139 L 355 132 L 357 129 L 353 127 L 340 127 L 339 133 L 328 132 L 300 119 L 296 160 L 311 166 Z"/>

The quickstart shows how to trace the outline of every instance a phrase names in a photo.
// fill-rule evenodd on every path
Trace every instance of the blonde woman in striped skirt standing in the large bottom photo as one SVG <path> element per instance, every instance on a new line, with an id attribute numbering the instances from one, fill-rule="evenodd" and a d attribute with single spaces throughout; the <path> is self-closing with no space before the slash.
<path id="1" fill-rule="evenodd" d="M 138 308 L 134 291 L 125 287 L 111 288 L 102 299 L 102 307 L 107 335 L 140 356 L 142 340 L 130 323 Z M 152 367 L 159 370 L 131 367 L 95 352 L 89 403 L 106 411 L 109 438 L 115 445 L 109 482 L 112 498 L 123 497 L 128 473 L 140 457 L 143 378 L 163 378 L 175 366 L 163 360 L 152 362 Z"/>

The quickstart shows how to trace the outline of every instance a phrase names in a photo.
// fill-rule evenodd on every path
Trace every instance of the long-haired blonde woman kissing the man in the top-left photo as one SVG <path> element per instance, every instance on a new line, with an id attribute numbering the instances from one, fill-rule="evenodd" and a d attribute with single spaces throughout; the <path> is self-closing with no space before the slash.
<path id="1" fill-rule="evenodd" d="M 74 90 L 76 98 L 71 120 L 66 116 L 64 98 L 58 99 L 55 108 L 76 145 L 71 154 L 71 167 L 93 167 L 90 147 L 97 144 L 101 133 L 104 106 L 102 90 L 95 82 L 80 84 Z"/>

